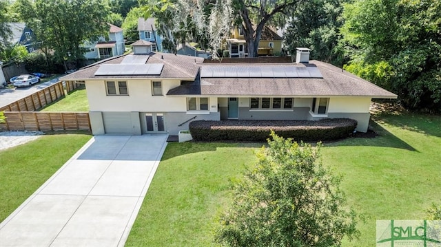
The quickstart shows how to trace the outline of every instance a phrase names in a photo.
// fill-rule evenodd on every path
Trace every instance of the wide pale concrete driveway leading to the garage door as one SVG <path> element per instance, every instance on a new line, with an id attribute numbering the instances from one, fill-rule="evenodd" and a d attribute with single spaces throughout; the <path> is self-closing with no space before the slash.
<path id="1" fill-rule="evenodd" d="M 95 136 L 0 224 L 0 246 L 124 246 L 167 135 Z"/>

